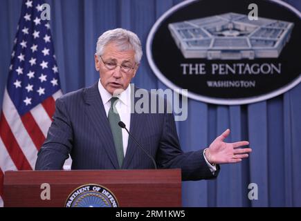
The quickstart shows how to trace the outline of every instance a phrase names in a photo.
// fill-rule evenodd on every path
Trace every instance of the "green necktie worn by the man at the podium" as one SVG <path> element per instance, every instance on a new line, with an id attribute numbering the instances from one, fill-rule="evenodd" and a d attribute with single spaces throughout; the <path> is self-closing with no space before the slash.
<path id="1" fill-rule="evenodd" d="M 123 162 L 123 144 L 122 144 L 122 128 L 118 125 L 118 122 L 120 122 L 120 117 L 118 114 L 118 111 L 116 110 L 116 103 L 117 103 L 118 97 L 112 97 L 111 98 L 111 108 L 109 110 L 108 119 L 111 126 L 111 131 L 113 135 L 113 141 L 116 148 L 118 163 L 121 168 L 122 162 Z"/>

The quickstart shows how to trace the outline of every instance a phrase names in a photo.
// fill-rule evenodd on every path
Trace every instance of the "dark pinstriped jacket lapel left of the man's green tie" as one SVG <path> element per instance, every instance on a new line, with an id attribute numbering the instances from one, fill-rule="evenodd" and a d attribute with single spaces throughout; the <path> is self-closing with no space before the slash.
<path id="1" fill-rule="evenodd" d="M 113 143 L 113 135 L 98 90 L 98 82 L 86 89 L 84 99 L 87 104 L 86 114 L 89 116 L 95 130 L 99 133 L 102 146 L 107 151 L 113 166 L 116 169 L 119 169 L 116 149 Z"/>

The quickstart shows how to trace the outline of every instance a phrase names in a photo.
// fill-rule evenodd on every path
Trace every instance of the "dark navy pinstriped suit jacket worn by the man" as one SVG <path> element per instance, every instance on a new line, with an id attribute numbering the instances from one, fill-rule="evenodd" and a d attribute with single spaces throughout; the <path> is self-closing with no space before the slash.
<path id="1" fill-rule="evenodd" d="M 98 82 L 63 95 L 55 102 L 55 115 L 36 170 L 62 169 L 71 155 L 71 169 L 119 169 L 113 135 Z M 183 153 L 171 113 L 131 113 L 130 133 L 156 159 L 158 168 L 182 169 L 182 180 L 210 179 L 203 150 Z M 129 138 L 122 169 L 152 169 L 152 160 Z"/>

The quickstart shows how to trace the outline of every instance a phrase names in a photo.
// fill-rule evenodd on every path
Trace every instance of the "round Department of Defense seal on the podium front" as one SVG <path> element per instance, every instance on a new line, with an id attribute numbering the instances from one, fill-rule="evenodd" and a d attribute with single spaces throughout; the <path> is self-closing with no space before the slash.
<path id="1" fill-rule="evenodd" d="M 109 191 L 98 184 L 77 187 L 66 200 L 66 207 L 118 207 L 118 202 Z"/>

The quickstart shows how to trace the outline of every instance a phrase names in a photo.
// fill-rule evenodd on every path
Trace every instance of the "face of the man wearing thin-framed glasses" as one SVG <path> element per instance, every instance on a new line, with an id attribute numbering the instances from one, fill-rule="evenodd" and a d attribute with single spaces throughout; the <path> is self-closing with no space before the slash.
<path id="1" fill-rule="evenodd" d="M 95 55 L 95 68 L 100 73 L 100 82 L 111 95 L 114 94 L 114 91 L 116 93 L 120 89 L 127 89 L 131 79 L 136 75 L 138 64 L 136 64 L 134 56 L 134 50 L 120 51 L 114 42 L 104 46 L 101 58 Z M 116 68 L 110 70 L 115 65 L 117 65 Z M 122 66 L 130 67 L 130 70 L 125 73 L 122 71 Z"/>

